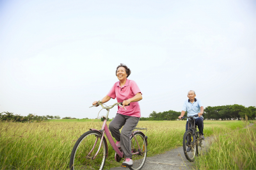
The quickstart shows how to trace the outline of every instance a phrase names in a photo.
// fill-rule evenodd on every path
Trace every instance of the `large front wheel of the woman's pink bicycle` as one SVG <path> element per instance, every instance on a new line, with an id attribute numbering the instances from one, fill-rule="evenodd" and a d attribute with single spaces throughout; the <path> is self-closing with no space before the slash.
<path id="1" fill-rule="evenodd" d="M 106 161 L 107 143 L 103 139 L 100 146 L 102 134 L 97 131 L 88 131 L 77 140 L 71 156 L 70 169 L 103 169 Z M 99 153 L 95 157 L 100 146 Z"/>

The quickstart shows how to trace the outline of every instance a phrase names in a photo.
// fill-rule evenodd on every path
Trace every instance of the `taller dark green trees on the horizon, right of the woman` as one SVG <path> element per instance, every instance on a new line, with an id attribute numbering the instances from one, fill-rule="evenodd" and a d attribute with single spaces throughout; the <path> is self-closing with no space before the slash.
<path id="1" fill-rule="evenodd" d="M 187 112 L 185 113 L 185 116 Z M 255 120 L 256 118 L 256 107 L 244 107 L 243 105 L 221 105 L 221 106 L 208 106 L 204 109 L 204 119 L 207 120 L 241 120 L 248 116 L 248 119 Z M 177 120 L 180 116 L 180 112 L 177 111 L 165 111 L 156 112 L 153 111 L 149 114 L 148 118 L 141 117 L 140 120 Z"/>

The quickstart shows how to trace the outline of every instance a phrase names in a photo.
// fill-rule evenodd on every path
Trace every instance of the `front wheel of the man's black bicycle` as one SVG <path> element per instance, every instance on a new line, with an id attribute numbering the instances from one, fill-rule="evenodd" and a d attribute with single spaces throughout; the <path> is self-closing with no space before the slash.
<path id="1" fill-rule="evenodd" d="M 195 140 L 195 135 L 192 135 L 191 130 L 187 130 L 183 137 L 183 151 L 189 162 L 193 162 L 196 157 L 196 143 L 193 144 L 193 139 Z M 188 152 L 189 147 L 191 151 Z"/>

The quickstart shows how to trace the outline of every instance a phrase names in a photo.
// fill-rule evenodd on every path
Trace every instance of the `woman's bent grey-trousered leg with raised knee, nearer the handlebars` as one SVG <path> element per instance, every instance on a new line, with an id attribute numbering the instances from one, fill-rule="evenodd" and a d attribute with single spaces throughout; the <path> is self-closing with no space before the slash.
<path id="1" fill-rule="evenodd" d="M 120 128 L 125 124 L 125 117 L 122 114 L 116 114 L 115 118 L 109 123 L 109 131 L 115 137 L 116 141 L 120 141 Z"/>

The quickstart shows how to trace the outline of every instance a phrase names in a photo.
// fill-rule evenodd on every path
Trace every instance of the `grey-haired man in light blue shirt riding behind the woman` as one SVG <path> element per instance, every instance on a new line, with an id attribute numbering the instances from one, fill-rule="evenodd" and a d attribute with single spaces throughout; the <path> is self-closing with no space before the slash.
<path id="1" fill-rule="evenodd" d="M 202 102 L 195 97 L 196 97 L 195 91 L 189 90 L 189 92 L 188 92 L 189 99 L 184 102 L 184 105 L 182 107 L 182 112 L 179 116 L 179 119 L 181 119 L 184 116 L 186 111 L 188 112 L 188 116 L 194 116 L 194 115 L 198 114 L 198 117 L 195 117 L 196 125 L 199 129 L 200 137 L 202 139 L 204 139 L 204 133 L 203 133 L 204 118 L 202 116 L 202 114 L 204 113 L 204 107 L 202 105 Z M 188 130 L 188 121 L 186 123 L 186 130 Z"/>

